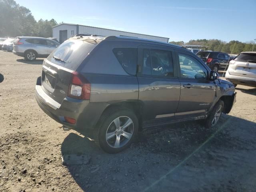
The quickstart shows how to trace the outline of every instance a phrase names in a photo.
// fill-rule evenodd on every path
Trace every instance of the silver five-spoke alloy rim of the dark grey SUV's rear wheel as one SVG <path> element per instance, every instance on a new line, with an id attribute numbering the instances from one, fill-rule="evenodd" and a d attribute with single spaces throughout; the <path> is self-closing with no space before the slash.
<path id="1" fill-rule="evenodd" d="M 128 143 L 134 132 L 134 123 L 127 116 L 114 119 L 106 131 L 106 141 L 112 148 L 120 148 Z"/>

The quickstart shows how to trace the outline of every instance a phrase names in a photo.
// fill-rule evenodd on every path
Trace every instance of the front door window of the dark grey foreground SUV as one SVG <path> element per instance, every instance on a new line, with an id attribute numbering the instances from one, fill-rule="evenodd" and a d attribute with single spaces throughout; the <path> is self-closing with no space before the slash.
<path id="1" fill-rule="evenodd" d="M 202 64 L 186 54 L 179 53 L 180 74 L 183 78 L 206 79 L 207 70 Z"/>

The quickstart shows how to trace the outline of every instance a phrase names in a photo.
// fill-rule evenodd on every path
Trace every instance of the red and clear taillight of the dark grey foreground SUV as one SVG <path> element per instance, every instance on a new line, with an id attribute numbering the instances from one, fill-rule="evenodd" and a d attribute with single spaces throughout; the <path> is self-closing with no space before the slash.
<path id="1" fill-rule="evenodd" d="M 70 79 L 70 85 L 68 88 L 68 96 L 72 98 L 90 100 L 91 84 L 81 74 L 74 71 Z"/>

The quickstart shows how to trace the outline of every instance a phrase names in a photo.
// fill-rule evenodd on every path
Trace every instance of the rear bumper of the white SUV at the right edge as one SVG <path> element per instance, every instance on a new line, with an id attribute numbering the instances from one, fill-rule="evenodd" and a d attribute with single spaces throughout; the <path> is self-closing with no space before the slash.
<path id="1" fill-rule="evenodd" d="M 234 84 L 256 87 L 256 78 L 230 75 L 228 71 L 225 78 Z"/>

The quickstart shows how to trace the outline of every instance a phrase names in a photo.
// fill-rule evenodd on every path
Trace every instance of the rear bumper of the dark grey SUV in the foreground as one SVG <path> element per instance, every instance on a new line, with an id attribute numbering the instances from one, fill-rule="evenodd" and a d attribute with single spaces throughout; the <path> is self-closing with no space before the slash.
<path id="1" fill-rule="evenodd" d="M 41 77 L 38 79 L 41 80 Z M 64 98 L 60 104 L 44 92 L 40 80 L 36 85 L 36 102 L 48 116 L 70 129 L 83 133 L 85 130 L 94 128 L 102 112 L 108 106 L 102 102 L 90 102 L 70 97 Z M 75 119 L 76 124 L 66 122 L 65 116 Z"/>

